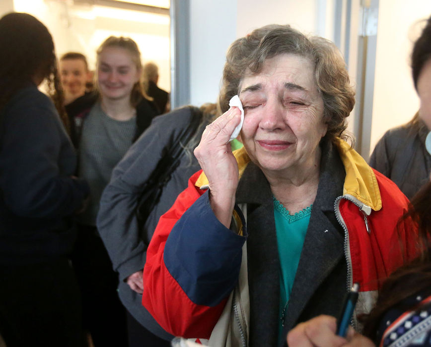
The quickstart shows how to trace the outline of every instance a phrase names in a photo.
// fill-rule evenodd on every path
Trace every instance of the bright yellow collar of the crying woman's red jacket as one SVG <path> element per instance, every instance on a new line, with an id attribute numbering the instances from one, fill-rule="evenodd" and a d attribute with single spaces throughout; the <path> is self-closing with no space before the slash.
<path id="1" fill-rule="evenodd" d="M 335 145 L 346 170 L 343 194 L 354 196 L 374 211 L 380 210 L 382 207 L 380 190 L 371 167 L 346 141 L 337 138 Z M 241 178 L 250 158 L 244 147 L 234 151 L 233 155 L 238 163 L 239 177 Z M 195 185 L 201 189 L 208 189 L 209 182 L 205 173 L 199 176 Z"/>

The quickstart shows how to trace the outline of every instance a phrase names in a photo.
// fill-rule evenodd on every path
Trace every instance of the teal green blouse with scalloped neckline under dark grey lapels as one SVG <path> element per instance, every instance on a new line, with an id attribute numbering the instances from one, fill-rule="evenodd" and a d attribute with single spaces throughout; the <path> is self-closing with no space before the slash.
<path id="1" fill-rule="evenodd" d="M 312 206 L 295 214 L 283 207 L 282 203 L 274 198 L 274 218 L 276 224 L 277 244 L 280 258 L 280 322 L 279 340 L 283 333 L 283 323 L 293 280 L 298 268 L 299 257 L 305 240 Z"/>

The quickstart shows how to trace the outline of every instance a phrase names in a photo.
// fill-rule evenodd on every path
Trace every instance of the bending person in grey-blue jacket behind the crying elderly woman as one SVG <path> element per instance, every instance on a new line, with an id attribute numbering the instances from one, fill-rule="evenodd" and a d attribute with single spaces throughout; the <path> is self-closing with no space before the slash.
<path id="1" fill-rule="evenodd" d="M 154 118 L 151 126 L 115 167 L 100 200 L 97 228 L 114 269 L 119 272 L 118 291 L 128 310 L 131 347 L 168 347 L 173 338 L 157 324 L 141 303 L 146 248 L 160 216 L 187 187 L 189 176 L 200 169 L 193 149 L 199 143 L 205 126 L 216 115 L 216 105 L 206 104 L 200 109 L 183 107 Z M 184 138 L 184 132 L 190 135 L 190 140 L 183 143 L 182 148 L 178 141 Z M 173 146 L 180 150 L 176 157 L 168 158 L 167 152 L 171 153 Z M 178 159 L 177 165 L 166 181 L 161 181 L 165 172 L 170 172 L 175 158 Z M 147 184 L 155 187 L 162 185 L 160 198 L 154 205 L 151 201 L 143 201 L 142 194 L 148 188 Z M 146 207 L 138 211 L 142 206 Z M 145 219 L 141 214 L 143 211 L 149 212 L 144 214 Z"/>

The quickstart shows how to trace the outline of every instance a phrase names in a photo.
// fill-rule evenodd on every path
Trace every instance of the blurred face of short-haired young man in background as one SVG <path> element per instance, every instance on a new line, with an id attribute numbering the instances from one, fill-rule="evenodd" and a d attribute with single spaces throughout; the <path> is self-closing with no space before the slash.
<path id="1" fill-rule="evenodd" d="M 85 93 L 89 74 L 82 59 L 60 60 L 60 77 L 67 99 L 76 99 Z"/>

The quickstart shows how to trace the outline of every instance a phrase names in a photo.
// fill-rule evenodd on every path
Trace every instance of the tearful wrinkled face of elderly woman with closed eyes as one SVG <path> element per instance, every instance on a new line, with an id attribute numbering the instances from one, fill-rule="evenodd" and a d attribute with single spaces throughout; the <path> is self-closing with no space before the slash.
<path id="1" fill-rule="evenodd" d="M 264 172 L 318 164 L 313 161 L 327 126 L 313 75 L 308 58 L 282 54 L 267 59 L 260 73 L 241 80 L 245 115 L 241 140 Z"/>

